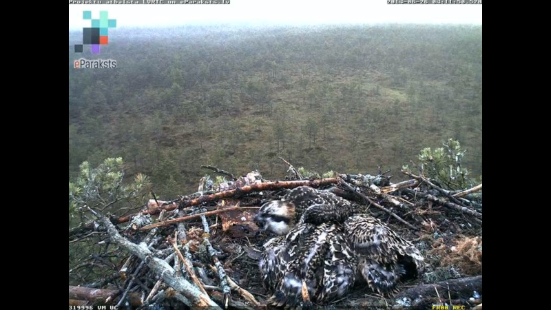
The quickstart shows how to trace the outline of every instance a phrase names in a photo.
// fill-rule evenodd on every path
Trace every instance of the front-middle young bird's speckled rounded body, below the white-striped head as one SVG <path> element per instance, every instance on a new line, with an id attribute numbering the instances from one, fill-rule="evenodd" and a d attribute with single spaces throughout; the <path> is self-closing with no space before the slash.
<path id="1" fill-rule="evenodd" d="M 357 258 L 344 238 L 342 225 L 304 223 L 286 236 L 264 245 L 260 270 L 275 307 L 296 307 L 304 302 L 303 282 L 314 303 L 344 296 L 355 280 Z"/>

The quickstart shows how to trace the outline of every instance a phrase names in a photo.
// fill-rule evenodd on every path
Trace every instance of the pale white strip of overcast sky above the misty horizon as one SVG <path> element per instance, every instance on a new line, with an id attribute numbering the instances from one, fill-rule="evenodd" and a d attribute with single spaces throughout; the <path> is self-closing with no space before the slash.
<path id="1" fill-rule="evenodd" d="M 227 5 L 70 4 L 70 29 L 90 27 L 90 21 L 82 19 L 83 10 L 91 10 L 94 19 L 99 17 L 98 11 L 107 10 L 110 19 L 117 20 L 117 28 L 197 23 L 482 23 L 481 5 L 389 5 L 386 0 L 231 0 Z"/>

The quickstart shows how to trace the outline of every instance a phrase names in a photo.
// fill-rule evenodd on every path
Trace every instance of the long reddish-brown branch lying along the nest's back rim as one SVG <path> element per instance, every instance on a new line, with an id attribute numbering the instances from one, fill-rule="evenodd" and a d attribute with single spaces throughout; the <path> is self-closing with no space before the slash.
<path id="1" fill-rule="evenodd" d="M 249 194 L 251 192 L 261 192 L 261 191 L 273 191 L 275 189 L 291 189 L 300 186 L 310 186 L 310 187 L 320 187 L 322 185 L 336 184 L 339 180 L 337 178 L 321 178 L 318 180 L 293 180 L 293 181 L 275 181 L 275 182 L 264 182 L 253 185 L 245 185 L 240 188 L 230 189 L 224 192 L 218 192 L 215 194 L 209 194 L 205 196 L 200 196 L 198 198 L 183 200 L 180 199 L 180 205 L 171 203 L 156 209 L 147 210 L 141 212 L 142 214 L 158 214 L 160 210 L 166 209 L 167 211 L 172 211 L 177 207 L 191 207 L 193 205 L 200 205 L 201 203 L 208 203 L 212 201 L 218 201 L 222 198 L 231 198 L 238 196 L 240 194 Z M 126 223 L 136 214 L 130 214 L 128 216 L 121 216 L 120 218 L 114 218 L 114 224 Z"/>

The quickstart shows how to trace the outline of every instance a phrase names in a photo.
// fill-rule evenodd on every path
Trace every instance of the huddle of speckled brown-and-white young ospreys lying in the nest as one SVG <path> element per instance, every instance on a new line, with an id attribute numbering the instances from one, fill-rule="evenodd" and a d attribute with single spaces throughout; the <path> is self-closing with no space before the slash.
<path id="1" fill-rule="evenodd" d="M 389 295 L 399 280 L 422 272 L 417 248 L 377 218 L 352 216 L 356 210 L 348 200 L 306 186 L 262 205 L 258 226 L 280 235 L 264 244 L 259 262 L 273 292 L 269 304 L 323 304 L 362 279 Z"/>

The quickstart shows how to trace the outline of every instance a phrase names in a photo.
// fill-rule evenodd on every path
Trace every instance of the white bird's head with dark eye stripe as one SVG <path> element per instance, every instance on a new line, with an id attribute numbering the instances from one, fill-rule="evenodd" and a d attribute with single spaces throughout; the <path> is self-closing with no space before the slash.
<path id="1" fill-rule="evenodd" d="M 264 203 L 254 221 L 262 230 L 284 235 L 295 225 L 295 206 L 288 201 L 272 200 Z"/>

